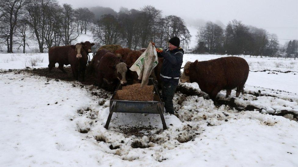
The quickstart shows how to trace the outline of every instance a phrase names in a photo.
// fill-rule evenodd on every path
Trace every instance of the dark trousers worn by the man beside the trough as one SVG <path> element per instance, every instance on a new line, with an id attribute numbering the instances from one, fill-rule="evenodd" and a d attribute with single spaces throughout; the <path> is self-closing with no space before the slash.
<path id="1" fill-rule="evenodd" d="M 165 102 L 165 112 L 174 114 L 173 98 L 177 86 L 169 82 L 162 83 L 162 99 Z"/>

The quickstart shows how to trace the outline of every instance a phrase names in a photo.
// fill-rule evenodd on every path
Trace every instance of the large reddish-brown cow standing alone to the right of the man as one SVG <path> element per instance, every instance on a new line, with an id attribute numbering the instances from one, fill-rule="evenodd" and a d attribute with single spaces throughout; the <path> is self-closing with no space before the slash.
<path id="1" fill-rule="evenodd" d="M 241 57 L 221 57 L 209 61 L 188 61 L 184 66 L 180 82 L 197 82 L 216 104 L 216 95 L 226 89 L 228 97 L 231 89 L 237 88 L 236 97 L 243 87 L 249 73 L 249 65 Z"/>

